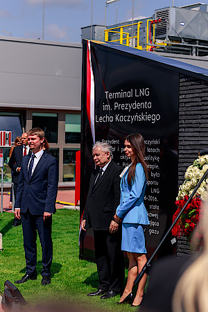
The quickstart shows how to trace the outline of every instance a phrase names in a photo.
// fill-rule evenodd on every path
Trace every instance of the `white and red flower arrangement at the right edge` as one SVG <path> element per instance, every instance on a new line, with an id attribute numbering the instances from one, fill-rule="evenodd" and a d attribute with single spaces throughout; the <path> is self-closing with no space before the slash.
<path id="1" fill-rule="evenodd" d="M 186 204 L 187 200 L 189 200 L 189 197 L 193 193 L 193 190 L 195 189 L 196 185 L 205 174 L 207 169 L 208 155 L 199 156 L 198 159 L 193 162 L 193 165 L 187 168 L 187 171 L 184 175 L 185 180 L 183 184 L 179 187 L 179 191 L 177 194 L 175 202 L 175 205 L 177 206 L 177 211 L 173 215 L 173 222 Z M 173 236 L 180 237 L 180 235 L 183 234 L 184 236 L 187 236 L 188 241 L 191 239 L 193 229 L 196 227 L 196 224 L 200 219 L 201 200 L 207 200 L 207 184 L 208 178 L 202 182 L 202 184 L 198 188 L 198 191 L 193 196 L 191 202 L 189 202 L 189 205 L 187 205 L 187 208 L 177 220 L 177 223 L 172 229 Z"/>

